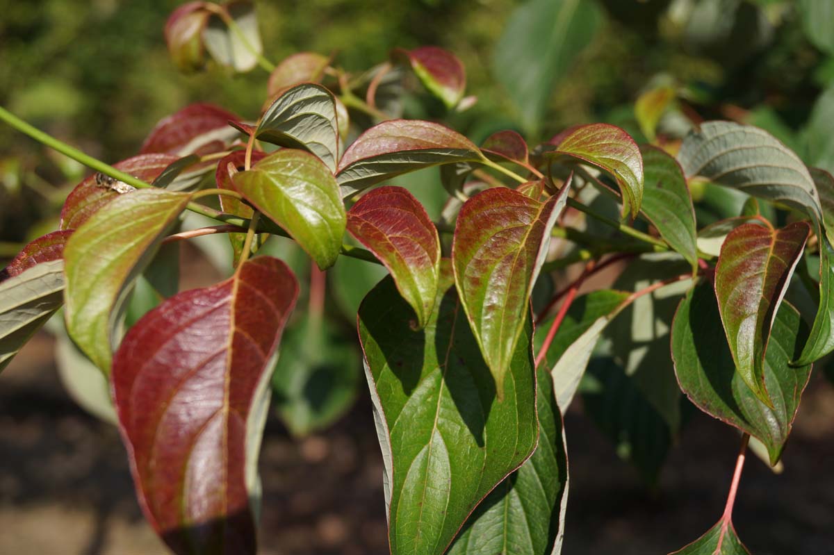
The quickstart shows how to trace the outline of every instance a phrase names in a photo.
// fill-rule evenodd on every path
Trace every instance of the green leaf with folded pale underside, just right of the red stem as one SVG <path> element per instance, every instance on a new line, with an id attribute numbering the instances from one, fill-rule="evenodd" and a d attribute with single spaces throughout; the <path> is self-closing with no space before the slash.
<path id="1" fill-rule="evenodd" d="M 570 407 L 605 326 L 620 313 L 629 294 L 600 289 L 576 298 L 570 305 L 542 363 L 543 367 L 552 368 L 550 374 L 556 403 L 562 413 Z M 551 315 L 536 325 L 534 344 L 537 352 L 545 343 L 554 318 Z"/>

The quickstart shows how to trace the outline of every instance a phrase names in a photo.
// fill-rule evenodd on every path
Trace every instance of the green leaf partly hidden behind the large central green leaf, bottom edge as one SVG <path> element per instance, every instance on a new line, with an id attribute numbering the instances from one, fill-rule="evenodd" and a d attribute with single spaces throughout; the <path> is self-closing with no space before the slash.
<path id="1" fill-rule="evenodd" d="M 559 555 L 565 533 L 568 461 L 550 373 L 536 371 L 539 445 L 466 520 L 448 555 Z"/>

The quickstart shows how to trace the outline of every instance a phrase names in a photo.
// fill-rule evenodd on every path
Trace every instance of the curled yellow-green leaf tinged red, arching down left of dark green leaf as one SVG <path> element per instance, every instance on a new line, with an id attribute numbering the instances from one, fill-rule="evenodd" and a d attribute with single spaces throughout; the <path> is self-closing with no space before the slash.
<path id="1" fill-rule="evenodd" d="M 565 154 L 613 175 L 623 193 L 623 217 L 631 213 L 631 218 L 636 218 L 643 202 L 644 178 L 643 158 L 634 139 L 608 123 L 576 126 L 556 137 L 552 144 L 544 145 L 544 153 Z"/>

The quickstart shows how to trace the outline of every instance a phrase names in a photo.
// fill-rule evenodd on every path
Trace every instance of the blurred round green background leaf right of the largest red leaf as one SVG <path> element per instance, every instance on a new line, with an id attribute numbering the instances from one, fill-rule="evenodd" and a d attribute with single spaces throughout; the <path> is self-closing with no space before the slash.
<path id="1" fill-rule="evenodd" d="M 294 436 L 327 428 L 354 403 L 362 356 L 329 320 L 304 314 L 284 333 L 281 353 L 273 406 Z"/>

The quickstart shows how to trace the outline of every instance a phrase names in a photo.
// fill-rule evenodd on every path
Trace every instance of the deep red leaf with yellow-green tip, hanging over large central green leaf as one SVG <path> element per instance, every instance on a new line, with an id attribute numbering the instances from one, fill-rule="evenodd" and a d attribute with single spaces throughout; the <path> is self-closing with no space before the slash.
<path id="1" fill-rule="evenodd" d="M 425 327 L 437 298 L 440 238 L 420 201 L 401 187 L 374 189 L 350 208 L 348 231 L 388 268 Z"/>

